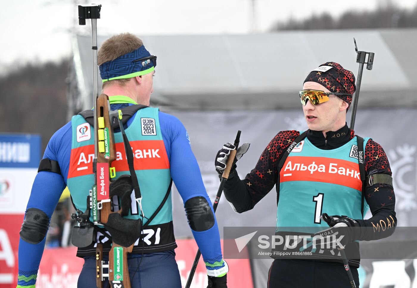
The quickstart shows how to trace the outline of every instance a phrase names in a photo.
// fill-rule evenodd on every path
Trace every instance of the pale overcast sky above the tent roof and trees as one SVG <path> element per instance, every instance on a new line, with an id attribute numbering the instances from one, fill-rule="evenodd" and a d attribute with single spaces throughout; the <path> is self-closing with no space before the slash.
<path id="1" fill-rule="evenodd" d="M 255 27 L 265 33 L 277 20 L 302 19 L 324 11 L 373 10 L 387 0 L 101 0 L 98 35 L 131 32 L 140 35 L 245 34 Z M 412 9 L 417 0 L 394 0 Z M 1 74 L 16 63 L 57 60 L 70 55 L 74 27 L 91 33 L 91 22 L 78 27 L 76 4 L 85 0 L 0 0 Z M 90 4 L 90 2 L 87 2 Z M 255 26 L 252 24 L 255 23 Z M 76 24 L 76 25 L 75 25 Z"/>

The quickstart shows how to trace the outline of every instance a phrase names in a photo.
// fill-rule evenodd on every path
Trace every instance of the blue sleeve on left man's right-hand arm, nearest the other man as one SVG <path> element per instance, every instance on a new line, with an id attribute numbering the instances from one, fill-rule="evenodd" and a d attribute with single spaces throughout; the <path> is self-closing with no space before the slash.
<path id="1" fill-rule="evenodd" d="M 171 165 L 171 177 L 183 203 L 190 198 L 201 196 L 206 198 L 214 214 L 211 200 L 207 195 L 206 188 L 201 178 L 200 168 L 191 150 L 188 133 L 178 118 L 175 116 L 159 113 L 159 123 L 168 159 Z M 221 254 L 219 228 L 217 220 L 213 227 L 205 231 L 192 230 L 194 239 L 203 255 L 203 260 L 209 270 L 219 269 L 224 266 Z"/>

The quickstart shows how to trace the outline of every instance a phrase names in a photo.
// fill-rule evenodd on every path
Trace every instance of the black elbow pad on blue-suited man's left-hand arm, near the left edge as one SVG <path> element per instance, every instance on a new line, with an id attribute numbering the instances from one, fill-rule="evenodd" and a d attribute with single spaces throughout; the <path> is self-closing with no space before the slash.
<path id="1" fill-rule="evenodd" d="M 38 208 L 29 208 L 25 213 L 20 238 L 31 244 L 40 243 L 45 238 L 49 227 L 49 217 Z"/>

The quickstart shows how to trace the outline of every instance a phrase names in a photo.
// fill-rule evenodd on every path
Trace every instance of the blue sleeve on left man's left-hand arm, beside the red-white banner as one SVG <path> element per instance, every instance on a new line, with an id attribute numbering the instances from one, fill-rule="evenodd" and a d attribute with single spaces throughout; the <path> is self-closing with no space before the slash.
<path id="1" fill-rule="evenodd" d="M 45 150 L 43 158 L 58 161 L 61 166 L 59 155 L 56 151 L 62 149 L 63 145 L 67 145 L 68 153 L 70 152 L 70 139 L 71 137 L 71 123 L 63 126 L 58 130 L 50 139 L 48 146 Z M 67 137 L 65 137 L 67 136 Z M 66 141 L 64 141 L 66 140 Z M 64 151 L 62 149 L 61 151 Z M 60 152 L 61 152 L 60 151 Z M 68 154 L 69 161 L 69 154 Z M 62 167 L 62 166 L 61 166 Z M 63 171 L 61 171 L 63 172 Z M 65 175 L 65 174 L 64 174 Z M 38 208 L 51 218 L 53 211 L 55 210 L 58 200 L 65 188 L 65 180 L 62 175 L 53 172 L 41 171 L 33 182 L 32 190 L 28 200 L 28 208 Z M 40 259 L 42 258 L 43 250 L 45 248 L 45 238 L 38 244 L 27 243 L 22 238 L 19 240 L 19 275 L 18 275 L 18 287 L 35 285 L 36 277 L 39 269 Z M 33 286 L 34 287 L 34 286 Z"/>

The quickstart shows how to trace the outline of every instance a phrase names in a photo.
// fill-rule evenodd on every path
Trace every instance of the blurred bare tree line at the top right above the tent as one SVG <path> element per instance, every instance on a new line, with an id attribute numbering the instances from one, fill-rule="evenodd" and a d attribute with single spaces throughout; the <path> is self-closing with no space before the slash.
<path id="1" fill-rule="evenodd" d="M 335 4 L 337 5 L 337 4 Z M 334 18 L 329 12 L 303 20 L 290 19 L 276 23 L 272 30 L 375 29 L 417 27 L 417 5 L 412 10 L 400 9 L 391 0 L 373 11 L 351 10 Z"/>

